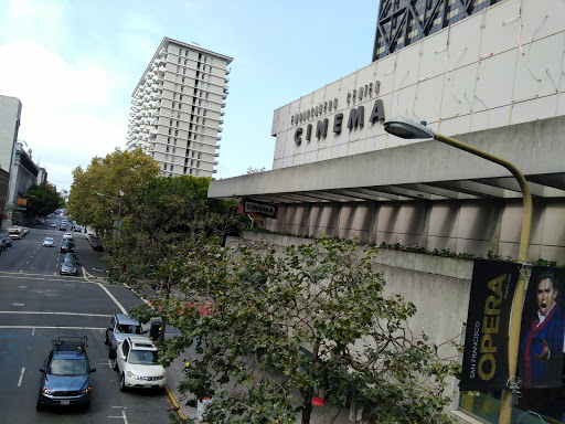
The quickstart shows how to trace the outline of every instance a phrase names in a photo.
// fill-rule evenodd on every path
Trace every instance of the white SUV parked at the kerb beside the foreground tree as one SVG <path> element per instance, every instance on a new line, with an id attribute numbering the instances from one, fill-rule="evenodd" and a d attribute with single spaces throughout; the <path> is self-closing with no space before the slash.
<path id="1" fill-rule="evenodd" d="M 118 343 L 114 369 L 121 374 L 119 389 L 163 389 L 164 368 L 159 363 L 157 348 L 143 337 L 127 337 Z"/>

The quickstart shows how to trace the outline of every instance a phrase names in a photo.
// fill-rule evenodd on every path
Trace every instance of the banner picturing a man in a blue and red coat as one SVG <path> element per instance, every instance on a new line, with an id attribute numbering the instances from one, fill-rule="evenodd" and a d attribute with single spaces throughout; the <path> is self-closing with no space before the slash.
<path id="1" fill-rule="evenodd" d="M 534 266 L 524 300 L 518 374 L 522 388 L 561 388 L 565 269 Z"/>

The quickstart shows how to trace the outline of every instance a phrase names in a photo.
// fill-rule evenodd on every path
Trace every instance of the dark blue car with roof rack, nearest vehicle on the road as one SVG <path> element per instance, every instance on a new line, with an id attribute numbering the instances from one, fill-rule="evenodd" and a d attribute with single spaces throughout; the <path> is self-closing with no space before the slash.
<path id="1" fill-rule="evenodd" d="M 58 337 L 40 368 L 41 384 L 36 409 L 45 406 L 88 406 L 93 382 L 86 337 Z"/>

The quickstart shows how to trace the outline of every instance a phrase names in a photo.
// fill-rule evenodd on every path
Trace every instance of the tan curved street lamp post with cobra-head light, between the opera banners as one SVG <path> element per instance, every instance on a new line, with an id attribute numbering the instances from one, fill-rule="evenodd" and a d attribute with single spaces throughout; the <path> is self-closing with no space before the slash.
<path id="1" fill-rule="evenodd" d="M 527 259 L 527 247 L 530 245 L 530 232 L 532 227 L 532 194 L 530 192 L 530 186 L 525 180 L 524 176 L 520 170 L 508 160 L 499 158 L 494 155 L 491 155 L 484 150 L 477 149 L 472 146 L 466 145 L 465 142 L 455 140 L 452 138 L 443 136 L 427 128 L 425 125 L 418 124 L 408 118 L 394 118 L 384 123 L 384 129 L 397 137 L 406 138 L 406 139 L 423 139 L 423 138 L 433 138 L 437 141 L 444 142 L 446 145 L 456 147 L 460 150 L 468 151 L 475 156 L 479 156 L 483 159 L 487 159 L 491 162 L 498 163 L 504 168 L 507 168 L 512 176 L 516 179 L 520 184 L 520 190 L 522 191 L 522 201 L 523 201 L 523 214 L 522 214 L 522 233 L 520 236 L 520 251 L 518 261 L 521 264 L 524 264 Z M 523 266 L 522 266 L 523 268 Z M 520 343 L 520 326 L 522 322 L 522 311 L 524 308 L 524 298 L 525 290 L 527 288 L 527 277 L 525 269 L 522 269 L 520 273 L 520 278 L 518 280 L 518 287 L 514 293 L 514 298 L 512 300 L 512 315 L 510 318 L 510 337 L 509 337 L 509 346 L 508 346 L 508 357 L 509 357 L 509 383 L 513 384 L 515 382 L 516 377 L 516 367 L 518 367 L 518 349 Z M 502 400 L 500 405 L 500 416 L 499 424 L 510 424 L 510 418 L 512 415 L 512 391 L 505 388 L 502 391 Z"/>

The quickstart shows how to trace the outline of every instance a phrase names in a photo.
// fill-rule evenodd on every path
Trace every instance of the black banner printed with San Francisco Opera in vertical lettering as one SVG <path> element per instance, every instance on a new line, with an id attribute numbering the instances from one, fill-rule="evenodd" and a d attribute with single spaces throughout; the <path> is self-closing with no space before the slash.
<path id="1" fill-rule="evenodd" d="M 510 311 L 520 267 L 512 262 L 475 259 L 459 383 L 462 391 L 507 386 Z"/>

